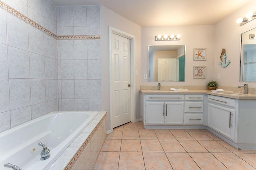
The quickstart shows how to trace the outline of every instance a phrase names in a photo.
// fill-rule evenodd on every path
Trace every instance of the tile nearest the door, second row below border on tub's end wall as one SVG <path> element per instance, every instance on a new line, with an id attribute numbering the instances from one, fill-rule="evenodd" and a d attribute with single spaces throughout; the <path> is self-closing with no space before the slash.
<path id="1" fill-rule="evenodd" d="M 100 60 L 88 60 L 88 79 L 101 78 L 101 62 Z"/>

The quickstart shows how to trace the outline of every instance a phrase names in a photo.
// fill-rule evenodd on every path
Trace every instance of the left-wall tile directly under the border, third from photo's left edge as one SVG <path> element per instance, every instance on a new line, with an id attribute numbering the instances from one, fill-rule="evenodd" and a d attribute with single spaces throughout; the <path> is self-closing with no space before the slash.
<path id="1" fill-rule="evenodd" d="M 39 29 L 29 25 L 29 51 L 32 53 L 44 55 L 44 33 Z"/>

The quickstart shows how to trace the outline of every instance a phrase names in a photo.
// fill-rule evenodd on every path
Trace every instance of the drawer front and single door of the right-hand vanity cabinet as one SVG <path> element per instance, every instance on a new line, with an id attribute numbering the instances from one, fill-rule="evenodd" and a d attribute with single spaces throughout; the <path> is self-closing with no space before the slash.
<path id="1" fill-rule="evenodd" d="M 236 141 L 236 99 L 208 95 L 208 127 Z"/>

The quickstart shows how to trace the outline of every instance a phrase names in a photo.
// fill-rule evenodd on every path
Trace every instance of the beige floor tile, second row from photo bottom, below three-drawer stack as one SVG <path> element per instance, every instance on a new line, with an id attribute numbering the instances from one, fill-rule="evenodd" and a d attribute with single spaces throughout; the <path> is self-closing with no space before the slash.
<path id="1" fill-rule="evenodd" d="M 197 141 L 179 140 L 179 143 L 184 147 L 187 152 L 208 152 Z"/>

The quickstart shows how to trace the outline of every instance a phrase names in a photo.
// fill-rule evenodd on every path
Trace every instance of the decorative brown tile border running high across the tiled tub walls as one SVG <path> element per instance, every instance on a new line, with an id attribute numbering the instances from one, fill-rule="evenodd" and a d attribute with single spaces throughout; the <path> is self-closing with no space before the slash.
<path id="1" fill-rule="evenodd" d="M 53 37 L 54 39 L 57 39 L 57 40 L 62 40 L 62 39 L 65 39 L 65 40 L 68 40 L 68 39 L 70 39 L 70 40 L 72 40 L 72 39 L 100 39 L 100 35 L 65 35 L 65 36 L 57 36 L 54 33 L 52 33 L 51 31 L 45 29 L 44 27 L 42 27 L 41 25 L 36 23 L 35 21 L 33 21 L 30 18 L 26 17 L 25 15 L 21 14 L 20 12 L 15 10 L 14 8 L 8 6 L 7 4 L 2 2 L 1 0 L 0 0 L 0 8 L 3 9 L 3 10 L 6 10 L 10 14 L 19 18 L 20 20 L 32 25 L 36 29 L 39 29 L 40 31 L 46 33 L 47 35 L 49 35 L 49 36 L 51 36 L 51 37 Z"/>

